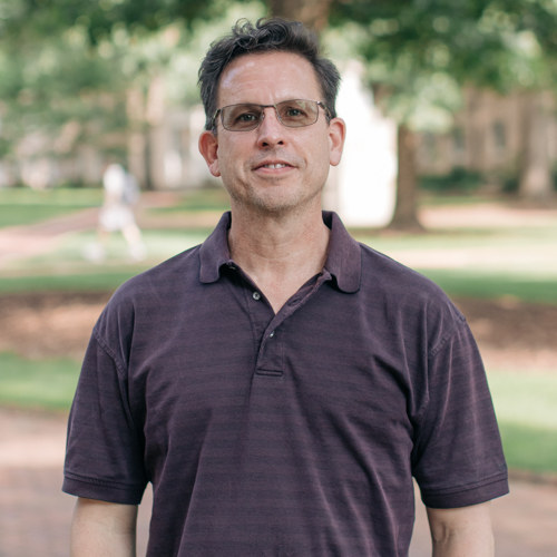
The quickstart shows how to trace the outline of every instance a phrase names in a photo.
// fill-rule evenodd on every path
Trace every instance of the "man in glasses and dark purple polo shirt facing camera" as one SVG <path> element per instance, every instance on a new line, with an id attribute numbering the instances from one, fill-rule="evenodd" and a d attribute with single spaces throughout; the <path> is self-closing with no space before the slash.
<path id="1" fill-rule="evenodd" d="M 339 76 L 313 37 L 244 22 L 199 72 L 199 149 L 231 197 L 203 245 L 133 278 L 95 326 L 68 434 L 72 551 L 403 556 L 412 477 L 437 556 L 492 555 L 507 472 L 465 319 L 322 213 Z"/>

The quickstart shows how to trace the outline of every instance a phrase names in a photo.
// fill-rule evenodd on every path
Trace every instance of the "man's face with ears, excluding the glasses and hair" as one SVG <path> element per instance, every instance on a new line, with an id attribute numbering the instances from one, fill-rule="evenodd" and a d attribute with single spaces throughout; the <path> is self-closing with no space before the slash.
<path id="1" fill-rule="evenodd" d="M 223 72 L 217 105 L 241 102 L 274 105 L 284 100 L 323 101 L 312 65 L 299 55 L 270 52 L 235 59 Z M 263 213 L 282 213 L 306 206 L 321 207 L 321 190 L 329 166 L 342 154 L 344 123 L 329 124 L 319 108 L 313 125 L 290 128 L 273 108 L 256 129 L 231 131 L 216 121 L 217 134 L 199 138 L 211 173 L 223 178 L 232 206 Z"/>

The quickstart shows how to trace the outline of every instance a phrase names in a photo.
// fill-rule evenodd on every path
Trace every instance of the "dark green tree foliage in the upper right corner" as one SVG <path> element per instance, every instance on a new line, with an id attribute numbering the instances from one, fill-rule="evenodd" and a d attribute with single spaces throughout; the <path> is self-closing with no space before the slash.
<path id="1" fill-rule="evenodd" d="M 402 119 L 438 74 L 501 91 L 548 85 L 556 21 L 556 0 L 338 0 L 331 13 L 355 23 L 371 81 L 409 95 Z"/>

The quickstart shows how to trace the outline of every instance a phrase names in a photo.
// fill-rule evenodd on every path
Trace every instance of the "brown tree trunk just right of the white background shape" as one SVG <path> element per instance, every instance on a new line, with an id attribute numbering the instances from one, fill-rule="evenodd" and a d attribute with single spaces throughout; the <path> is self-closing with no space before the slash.
<path id="1" fill-rule="evenodd" d="M 418 218 L 418 178 L 417 178 L 417 147 L 416 134 L 404 125 L 399 125 L 397 134 L 399 152 L 399 173 L 397 177 L 397 197 L 394 214 L 390 228 L 421 231 Z"/>

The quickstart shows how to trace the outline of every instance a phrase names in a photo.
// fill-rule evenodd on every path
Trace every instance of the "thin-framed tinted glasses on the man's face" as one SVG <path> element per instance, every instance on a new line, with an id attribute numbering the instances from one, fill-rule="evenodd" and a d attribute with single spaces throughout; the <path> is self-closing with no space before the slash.
<path id="1" fill-rule="evenodd" d="M 251 131 L 260 126 L 265 118 L 265 108 L 273 107 L 278 121 L 289 128 L 303 128 L 315 124 L 319 118 L 319 107 L 325 116 L 331 119 L 329 108 L 320 100 L 283 100 L 276 105 L 255 105 L 243 102 L 241 105 L 228 105 L 219 108 L 213 116 L 212 126 L 216 127 L 216 119 L 221 115 L 221 121 L 229 131 Z"/>

